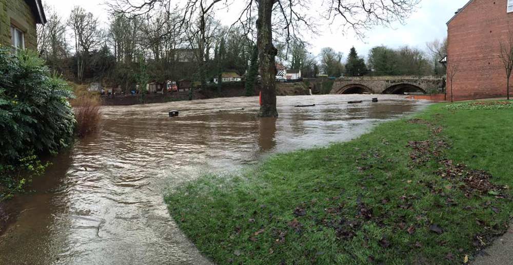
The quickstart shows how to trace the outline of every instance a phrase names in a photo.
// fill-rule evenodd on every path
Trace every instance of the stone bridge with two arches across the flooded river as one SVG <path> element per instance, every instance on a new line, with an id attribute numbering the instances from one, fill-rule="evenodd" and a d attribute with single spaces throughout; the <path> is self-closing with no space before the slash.
<path id="1" fill-rule="evenodd" d="M 312 92 L 330 94 L 404 94 L 428 93 L 445 88 L 445 76 L 362 76 L 305 78 Z M 327 82 L 327 83 L 326 83 Z"/>

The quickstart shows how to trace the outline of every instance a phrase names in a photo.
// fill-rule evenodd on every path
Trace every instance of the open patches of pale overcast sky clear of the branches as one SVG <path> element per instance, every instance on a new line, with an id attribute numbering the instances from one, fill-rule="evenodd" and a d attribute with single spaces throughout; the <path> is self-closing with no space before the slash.
<path id="1" fill-rule="evenodd" d="M 103 5 L 108 0 L 45 0 L 63 17 L 67 17 L 73 6 L 82 6 L 87 11 L 98 16 L 106 25 L 108 22 L 107 7 Z M 312 0 L 315 1 L 322 0 Z M 322 48 L 331 47 L 337 51 L 348 54 L 349 49 L 354 46 L 360 55 L 366 56 L 369 49 L 386 45 L 397 48 L 408 45 L 420 49 L 426 49 L 426 42 L 436 38 L 444 38 L 447 35 L 447 26 L 445 23 L 454 15 L 458 8 L 463 7 L 468 0 L 422 0 L 421 4 L 405 25 L 399 23 L 392 25 L 392 28 L 375 28 L 366 32 L 366 38 L 361 40 L 356 38 L 351 32 L 346 35 L 329 30 L 326 26 L 324 32 L 320 32 L 319 37 L 308 40 L 312 45 L 312 53 L 318 54 Z M 238 17 L 241 10 L 241 0 L 235 0 L 228 10 L 218 11 L 218 17 L 221 22 L 231 25 L 234 19 Z"/>

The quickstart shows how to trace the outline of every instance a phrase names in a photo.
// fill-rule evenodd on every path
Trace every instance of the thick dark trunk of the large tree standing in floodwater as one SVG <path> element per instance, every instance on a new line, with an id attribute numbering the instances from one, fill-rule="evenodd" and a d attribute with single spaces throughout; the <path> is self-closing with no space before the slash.
<path id="1" fill-rule="evenodd" d="M 257 47 L 260 59 L 262 106 L 260 117 L 278 117 L 276 109 L 276 65 L 278 50 L 272 45 L 272 6 L 275 0 L 260 0 L 258 8 Z"/>

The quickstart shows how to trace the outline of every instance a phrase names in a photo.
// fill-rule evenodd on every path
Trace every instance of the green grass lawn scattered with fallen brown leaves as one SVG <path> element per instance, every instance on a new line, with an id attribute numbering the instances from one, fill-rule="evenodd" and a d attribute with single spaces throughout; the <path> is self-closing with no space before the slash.
<path id="1" fill-rule="evenodd" d="M 462 105 L 463 106 L 463 105 Z M 166 197 L 216 263 L 461 264 L 505 232 L 513 109 L 431 106 Z"/>

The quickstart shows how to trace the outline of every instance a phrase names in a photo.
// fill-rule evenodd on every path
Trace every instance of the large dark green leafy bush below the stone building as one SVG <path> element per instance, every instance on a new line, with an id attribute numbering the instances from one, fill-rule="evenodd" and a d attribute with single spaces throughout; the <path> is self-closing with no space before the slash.
<path id="1" fill-rule="evenodd" d="M 75 125 L 72 95 L 35 53 L 0 47 L 0 164 L 68 147 Z"/>

